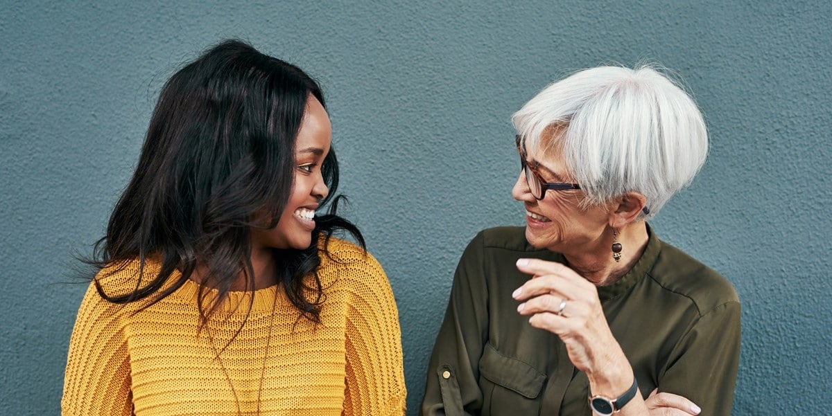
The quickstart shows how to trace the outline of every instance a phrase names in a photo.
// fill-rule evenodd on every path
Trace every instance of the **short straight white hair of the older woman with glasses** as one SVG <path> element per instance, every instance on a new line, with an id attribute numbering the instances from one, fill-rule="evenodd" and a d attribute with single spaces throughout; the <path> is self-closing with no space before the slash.
<path id="1" fill-rule="evenodd" d="M 527 146 L 562 152 L 587 204 L 637 192 L 650 215 L 691 183 L 708 154 L 696 103 L 654 66 L 579 71 L 535 95 L 512 122 Z"/>

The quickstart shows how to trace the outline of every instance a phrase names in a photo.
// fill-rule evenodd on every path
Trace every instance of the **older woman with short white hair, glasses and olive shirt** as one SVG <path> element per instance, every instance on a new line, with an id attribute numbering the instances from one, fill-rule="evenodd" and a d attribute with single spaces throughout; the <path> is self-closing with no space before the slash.
<path id="1" fill-rule="evenodd" d="M 705 162 L 691 97 L 650 66 L 557 81 L 514 116 L 526 226 L 459 261 L 422 414 L 730 414 L 740 302 L 646 223 Z"/>

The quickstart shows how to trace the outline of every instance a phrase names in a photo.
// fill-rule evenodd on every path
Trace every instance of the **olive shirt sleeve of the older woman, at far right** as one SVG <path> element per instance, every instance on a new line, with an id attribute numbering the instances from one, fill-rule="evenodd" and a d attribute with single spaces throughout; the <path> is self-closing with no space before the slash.
<path id="1" fill-rule="evenodd" d="M 676 345 L 659 391 L 681 394 L 701 414 L 730 415 L 740 361 L 740 302 L 704 313 Z"/>

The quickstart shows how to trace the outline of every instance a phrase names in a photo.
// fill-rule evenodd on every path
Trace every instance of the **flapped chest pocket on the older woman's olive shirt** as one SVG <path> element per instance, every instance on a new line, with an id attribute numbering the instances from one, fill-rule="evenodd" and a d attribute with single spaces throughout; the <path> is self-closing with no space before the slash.
<path id="1" fill-rule="evenodd" d="M 503 355 L 491 344 L 479 360 L 483 415 L 538 414 L 546 374 L 525 362 Z"/>

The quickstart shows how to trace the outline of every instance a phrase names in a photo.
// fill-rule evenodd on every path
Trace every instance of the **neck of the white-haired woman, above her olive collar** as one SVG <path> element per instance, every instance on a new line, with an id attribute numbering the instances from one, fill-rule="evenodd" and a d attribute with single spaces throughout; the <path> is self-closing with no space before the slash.
<path id="1" fill-rule="evenodd" d="M 580 254 L 567 254 L 567 264 L 575 272 L 595 286 L 610 286 L 621 279 L 636 264 L 647 246 L 647 226 L 644 221 L 631 223 L 618 230 L 618 242 L 622 244 L 621 260 L 612 257 L 612 229 L 604 233 L 594 250 Z"/>

